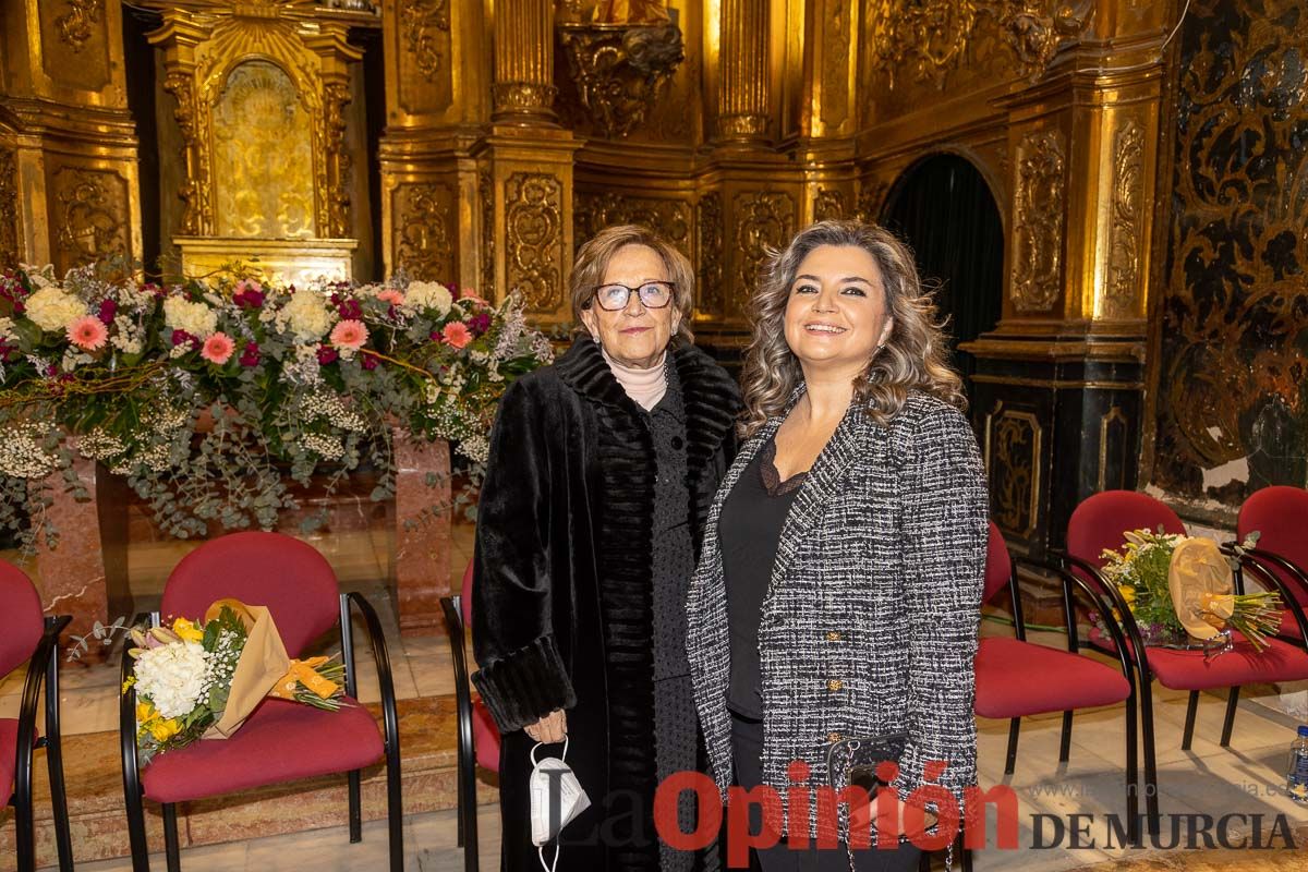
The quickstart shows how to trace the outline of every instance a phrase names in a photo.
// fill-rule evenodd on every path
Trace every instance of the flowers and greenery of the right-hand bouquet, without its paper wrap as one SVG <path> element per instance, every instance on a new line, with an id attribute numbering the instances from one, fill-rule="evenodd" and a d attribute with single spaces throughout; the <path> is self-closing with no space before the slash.
<path id="1" fill-rule="evenodd" d="M 1124 539 L 1126 543 L 1121 550 L 1103 552 L 1103 573 L 1130 609 L 1146 645 L 1190 647 L 1193 633 L 1186 629 L 1186 624 L 1193 628 L 1196 621 L 1201 629 L 1207 625 L 1216 631 L 1214 639 L 1199 641 L 1197 647 L 1206 650 L 1228 650 L 1232 631 L 1241 633 L 1256 651 L 1266 647 L 1269 635 L 1275 635 L 1281 626 L 1281 595 L 1277 592 L 1231 594 L 1228 587 L 1219 583 L 1210 587 L 1220 590 L 1199 592 L 1193 603 L 1182 605 L 1193 613 L 1179 613 L 1179 592 L 1172 584 L 1177 569 L 1175 560 L 1180 550 L 1197 541 L 1196 537 L 1167 533 L 1159 528 L 1158 532 L 1129 531 L 1124 533 Z M 1253 548 L 1256 541 L 1257 533 L 1253 533 L 1236 546 L 1236 553 Z M 1211 540 L 1202 544 L 1206 548 L 1197 549 L 1201 552 L 1201 563 L 1205 558 L 1210 563 L 1235 560 L 1222 557 Z M 1202 552 L 1210 552 L 1211 556 Z M 1194 571 L 1190 567 L 1182 569 Z M 1121 618 L 1117 609 L 1113 609 L 1113 616 Z"/>

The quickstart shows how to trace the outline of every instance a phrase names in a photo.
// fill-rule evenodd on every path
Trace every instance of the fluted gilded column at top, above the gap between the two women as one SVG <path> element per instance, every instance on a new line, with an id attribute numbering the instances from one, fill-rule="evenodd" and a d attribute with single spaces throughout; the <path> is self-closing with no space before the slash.
<path id="1" fill-rule="evenodd" d="M 768 136 L 768 0 L 722 0 L 718 139 Z"/>

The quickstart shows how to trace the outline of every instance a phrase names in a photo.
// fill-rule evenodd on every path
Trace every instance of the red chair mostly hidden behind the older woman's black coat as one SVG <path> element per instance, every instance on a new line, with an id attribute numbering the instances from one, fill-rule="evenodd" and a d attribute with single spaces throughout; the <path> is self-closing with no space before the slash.
<path id="1" fill-rule="evenodd" d="M 500 771 L 500 731 L 481 699 L 473 699 L 468 688 L 468 665 L 464 658 L 467 628 L 472 626 L 472 561 L 463 570 L 463 588 L 458 596 L 441 600 L 445 631 L 450 637 L 454 660 L 454 699 L 459 735 L 459 847 L 463 868 L 477 871 L 477 773 L 476 767 Z"/>

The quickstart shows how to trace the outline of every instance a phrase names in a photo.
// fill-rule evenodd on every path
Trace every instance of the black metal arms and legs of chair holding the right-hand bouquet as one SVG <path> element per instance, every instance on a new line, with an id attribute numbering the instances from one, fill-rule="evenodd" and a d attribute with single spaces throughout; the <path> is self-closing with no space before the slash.
<path id="1" fill-rule="evenodd" d="M 1116 588 L 1116 586 L 1110 584 L 1108 579 L 1104 578 L 1104 574 L 1099 570 L 1097 566 L 1090 563 L 1088 561 L 1080 560 L 1079 557 L 1074 557 L 1063 550 L 1052 549 L 1049 553 L 1054 558 L 1062 561 L 1062 566 L 1054 566 L 1054 565 L 1050 566 L 1052 569 L 1056 569 L 1059 574 L 1066 574 L 1071 578 L 1076 578 L 1076 580 L 1084 584 L 1083 579 L 1073 575 L 1071 570 L 1079 569 L 1080 571 L 1087 573 L 1090 578 L 1096 579 L 1100 587 L 1103 588 L 1104 594 L 1109 597 L 1113 607 L 1117 609 L 1117 613 L 1121 616 L 1120 620 L 1114 620 L 1112 612 L 1109 611 L 1101 612 L 1104 616 L 1104 625 L 1109 628 L 1110 634 L 1113 637 L 1113 645 L 1117 646 L 1118 652 L 1121 652 L 1122 648 L 1121 637 L 1125 634 L 1125 637 L 1130 641 L 1130 659 L 1134 662 L 1135 672 L 1137 676 L 1139 677 L 1141 726 L 1143 727 L 1142 732 L 1143 732 L 1143 748 L 1144 748 L 1144 805 L 1146 805 L 1146 816 L 1148 818 L 1148 831 L 1151 835 L 1156 835 L 1159 833 L 1160 814 L 1158 808 L 1158 756 L 1154 745 L 1154 690 L 1152 690 L 1154 672 L 1150 669 L 1148 665 L 1148 651 L 1144 645 L 1144 638 L 1141 634 L 1139 626 L 1135 624 L 1135 618 L 1131 616 L 1131 611 L 1130 607 L 1126 604 L 1126 600 L 1122 597 L 1121 592 Z M 1294 612 L 1298 616 L 1300 628 L 1304 628 L 1305 618 L 1303 614 L 1303 609 L 1299 607 L 1298 600 L 1295 600 L 1290 595 L 1290 591 L 1286 588 L 1284 583 L 1279 578 L 1277 578 L 1271 573 L 1267 573 L 1264 567 L 1256 563 L 1254 563 L 1254 571 L 1260 574 L 1260 578 L 1264 578 L 1264 580 L 1266 580 L 1269 588 L 1274 588 L 1281 592 L 1282 600 L 1288 604 L 1288 608 L 1294 609 Z M 1240 573 L 1236 573 L 1235 587 L 1237 594 L 1244 592 L 1244 580 Z M 1114 629 L 1117 631 L 1112 633 L 1112 630 Z M 1305 634 L 1305 638 L 1308 638 L 1308 634 Z M 1300 645 L 1299 647 L 1303 646 Z M 1100 648 L 1100 650 L 1103 650 L 1105 654 L 1110 654 L 1110 651 L 1108 651 L 1107 648 Z M 1194 716 L 1198 709 L 1198 702 L 1199 702 L 1199 692 L 1192 690 L 1186 705 L 1185 728 L 1181 737 L 1181 750 L 1190 749 L 1190 743 L 1194 737 Z M 1231 745 L 1231 732 L 1235 727 L 1235 713 L 1239 702 L 1240 702 L 1240 685 L 1233 685 L 1228 689 L 1227 693 L 1226 718 L 1223 719 L 1222 723 L 1220 745 L 1223 748 L 1228 748 Z M 1065 719 L 1067 719 L 1069 722 L 1070 722 L 1070 714 L 1071 713 L 1063 715 Z"/>

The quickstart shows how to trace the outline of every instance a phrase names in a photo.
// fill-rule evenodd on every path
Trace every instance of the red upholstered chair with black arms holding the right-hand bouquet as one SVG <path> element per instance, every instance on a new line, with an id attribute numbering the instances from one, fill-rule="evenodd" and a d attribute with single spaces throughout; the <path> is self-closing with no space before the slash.
<path id="1" fill-rule="evenodd" d="M 1269 648 L 1262 654 L 1254 654 L 1248 642 L 1237 641 L 1233 651 L 1211 659 L 1202 651 L 1144 646 L 1139 628 L 1121 594 L 1100 574 L 1104 565 L 1100 554 L 1107 548 L 1121 548 L 1122 533 L 1129 529 L 1156 529 L 1159 527 L 1169 533 L 1185 533 L 1185 526 L 1176 512 L 1158 499 L 1131 490 L 1108 490 L 1095 494 L 1076 506 L 1067 523 L 1067 550 L 1065 553 L 1054 552 L 1062 561 L 1063 570 L 1093 584 L 1121 614 L 1118 629 L 1126 638 L 1126 646 L 1139 677 L 1141 724 L 1144 744 L 1144 797 L 1150 833 L 1158 833 L 1159 826 L 1151 686 L 1154 679 L 1158 679 L 1164 688 L 1190 692 L 1181 741 L 1181 748 L 1185 750 L 1190 748 L 1190 740 L 1194 735 L 1194 715 L 1201 690 L 1230 689 L 1226 720 L 1222 727 L 1222 745 L 1227 746 L 1231 744 L 1231 729 L 1235 724 L 1236 703 L 1240 699 L 1243 685 L 1308 679 L 1308 651 L 1281 639 L 1269 639 Z M 1290 594 L 1279 579 L 1270 575 L 1269 579 L 1288 601 Z M 1109 613 L 1104 613 L 1104 617 L 1110 620 Z"/>

